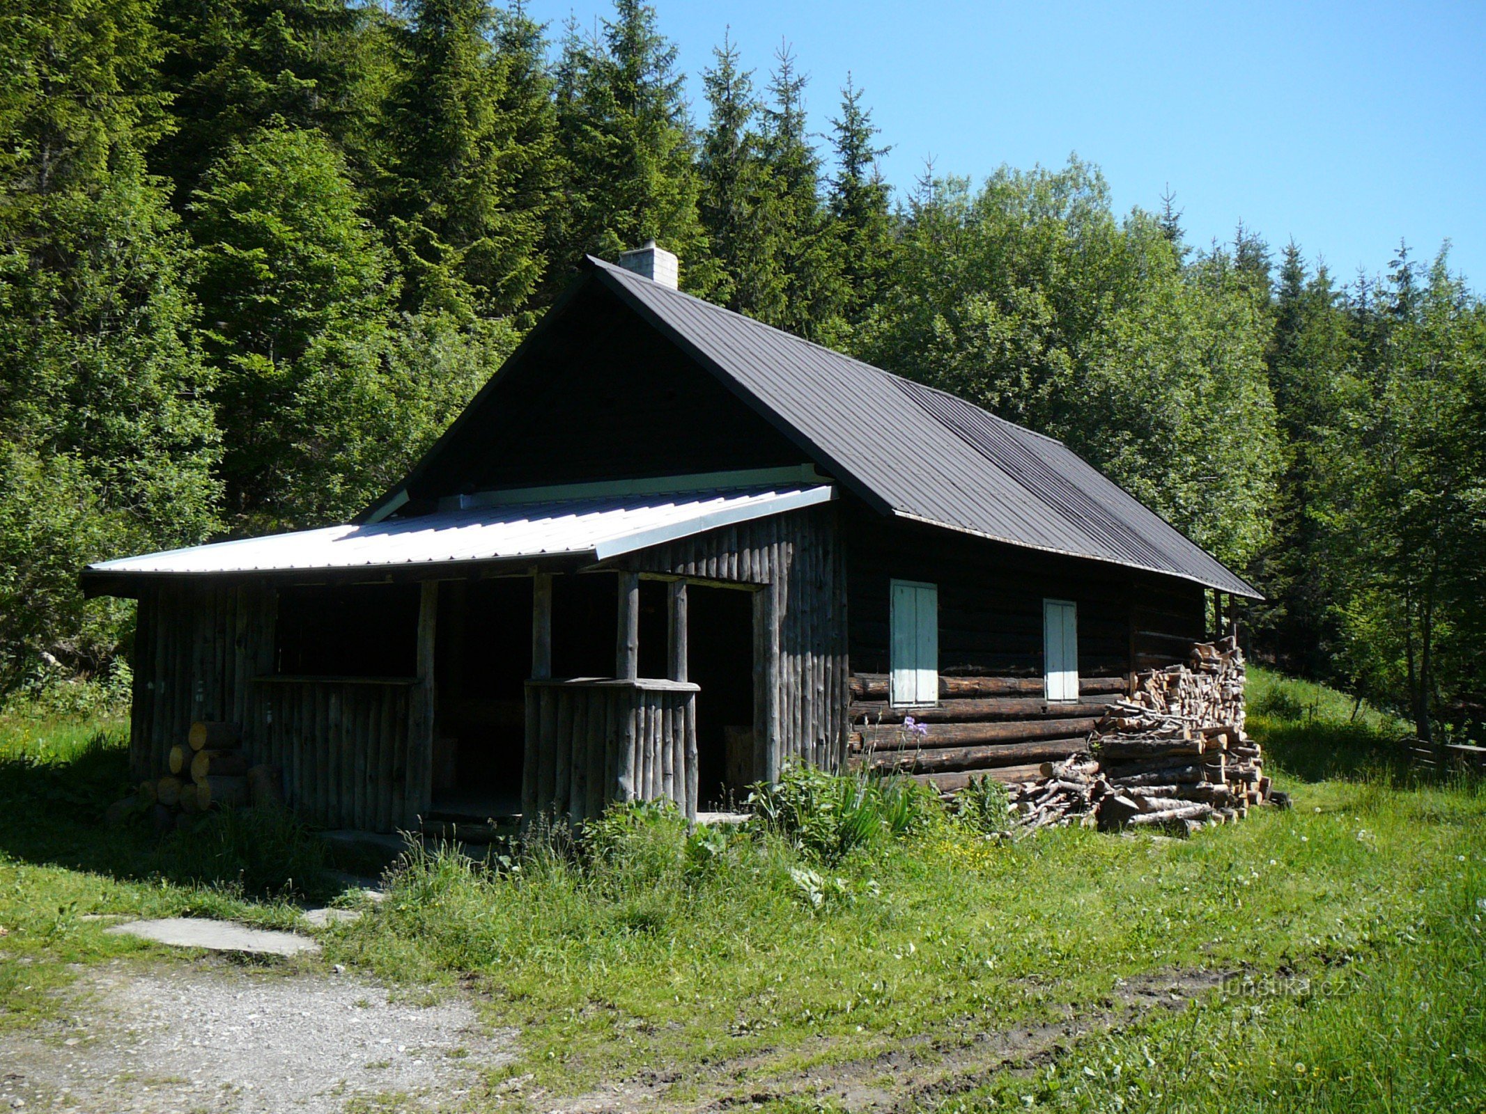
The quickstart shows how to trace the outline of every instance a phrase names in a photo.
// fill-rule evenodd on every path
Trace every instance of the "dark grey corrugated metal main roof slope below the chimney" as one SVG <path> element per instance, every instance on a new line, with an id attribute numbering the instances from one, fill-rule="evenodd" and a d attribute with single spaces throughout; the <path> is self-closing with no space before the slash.
<path id="1" fill-rule="evenodd" d="M 1259 596 L 1060 441 L 602 260 L 590 261 L 605 284 L 883 509 L 1010 545 Z"/>

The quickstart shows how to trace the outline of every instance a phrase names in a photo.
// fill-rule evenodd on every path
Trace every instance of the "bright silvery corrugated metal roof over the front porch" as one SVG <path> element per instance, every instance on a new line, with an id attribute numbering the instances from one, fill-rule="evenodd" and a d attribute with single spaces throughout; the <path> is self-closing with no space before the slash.
<path id="1" fill-rule="evenodd" d="M 826 502 L 829 484 L 590 496 L 328 526 L 89 564 L 92 575 L 395 569 L 556 554 L 608 560 L 718 526 Z"/>

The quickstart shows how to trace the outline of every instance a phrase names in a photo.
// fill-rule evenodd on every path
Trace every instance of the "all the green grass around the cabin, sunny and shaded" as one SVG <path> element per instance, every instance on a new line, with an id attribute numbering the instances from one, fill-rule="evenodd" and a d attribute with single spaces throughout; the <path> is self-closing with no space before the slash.
<path id="1" fill-rule="evenodd" d="M 640 1080 L 663 1107 L 829 1110 L 880 1087 L 945 1111 L 1480 1110 L 1486 790 L 1410 780 L 1401 725 L 1256 673 L 1251 731 L 1291 811 L 1181 841 L 1005 842 L 929 815 L 825 859 L 643 812 L 578 857 L 418 856 L 324 962 L 473 989 L 522 1032 L 502 1075 L 548 1096 Z M 0 728 L 0 1025 L 45 1013 L 68 964 L 143 948 L 83 913 L 290 924 L 287 896 L 317 885 L 293 826 L 215 821 L 210 854 L 98 827 L 122 731 Z M 244 864 L 256 838 L 272 861 Z M 1193 1004 L 1165 1009 L 1168 983 Z"/>

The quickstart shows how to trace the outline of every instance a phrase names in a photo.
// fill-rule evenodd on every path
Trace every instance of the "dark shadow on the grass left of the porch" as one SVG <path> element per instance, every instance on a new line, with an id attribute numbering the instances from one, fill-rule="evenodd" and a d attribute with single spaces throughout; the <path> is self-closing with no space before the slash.
<path id="1" fill-rule="evenodd" d="M 325 851 L 279 810 L 221 810 L 155 830 L 147 810 L 106 826 L 129 796 L 126 741 L 95 732 L 61 755 L 0 755 L 0 853 L 117 881 L 202 885 L 247 899 L 322 897 Z"/>

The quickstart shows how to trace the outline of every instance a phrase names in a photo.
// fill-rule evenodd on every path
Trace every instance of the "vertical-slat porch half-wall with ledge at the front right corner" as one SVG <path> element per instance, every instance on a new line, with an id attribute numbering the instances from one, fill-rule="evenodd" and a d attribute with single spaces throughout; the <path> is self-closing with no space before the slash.
<path id="1" fill-rule="evenodd" d="M 612 801 L 669 798 L 694 817 L 697 691 L 645 677 L 526 682 L 523 814 L 577 826 Z"/>

